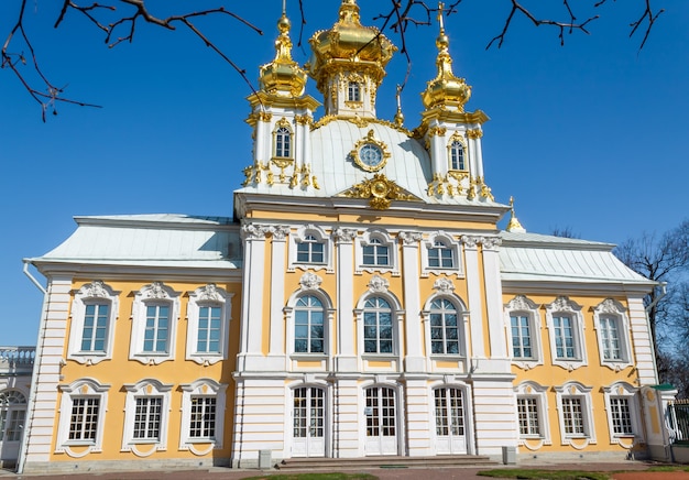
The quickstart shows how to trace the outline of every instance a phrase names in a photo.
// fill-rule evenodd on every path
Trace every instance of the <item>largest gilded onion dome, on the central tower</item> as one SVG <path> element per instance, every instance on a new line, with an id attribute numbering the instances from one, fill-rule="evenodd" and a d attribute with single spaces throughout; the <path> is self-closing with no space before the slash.
<path id="1" fill-rule="evenodd" d="M 356 0 L 342 0 L 339 20 L 330 30 L 318 31 L 309 40 L 314 52 L 309 62 L 309 75 L 325 94 L 327 77 L 352 63 L 365 66 L 375 85 L 385 76 L 385 66 L 397 50 L 375 26 L 363 26 L 359 20 Z"/>

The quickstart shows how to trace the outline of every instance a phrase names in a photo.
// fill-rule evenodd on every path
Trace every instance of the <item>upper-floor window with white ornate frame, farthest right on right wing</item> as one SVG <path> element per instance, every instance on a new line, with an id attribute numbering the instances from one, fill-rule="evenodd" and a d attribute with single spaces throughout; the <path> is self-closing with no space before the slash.
<path id="1" fill-rule="evenodd" d="M 593 308 L 601 364 L 615 371 L 632 364 L 628 320 L 619 302 L 606 298 Z"/>

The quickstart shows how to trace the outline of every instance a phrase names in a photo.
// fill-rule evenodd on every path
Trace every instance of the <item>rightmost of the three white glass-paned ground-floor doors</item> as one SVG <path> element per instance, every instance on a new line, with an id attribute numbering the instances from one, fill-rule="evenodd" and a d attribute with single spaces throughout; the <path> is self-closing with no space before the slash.
<path id="1" fill-rule="evenodd" d="M 460 389 L 436 389 L 436 452 L 467 454 L 464 397 Z"/>

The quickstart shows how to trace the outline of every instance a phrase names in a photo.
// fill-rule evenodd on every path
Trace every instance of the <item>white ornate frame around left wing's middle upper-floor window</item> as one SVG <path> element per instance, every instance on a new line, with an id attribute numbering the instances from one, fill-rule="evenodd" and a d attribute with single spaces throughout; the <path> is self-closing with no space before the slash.
<path id="1" fill-rule="evenodd" d="M 169 305 L 167 351 L 152 352 L 143 350 L 146 328 L 146 307 L 166 303 Z M 179 320 L 179 293 L 162 282 L 153 282 L 134 295 L 132 306 L 132 336 L 129 347 L 129 359 L 144 364 L 158 364 L 175 358 L 177 321 Z"/>

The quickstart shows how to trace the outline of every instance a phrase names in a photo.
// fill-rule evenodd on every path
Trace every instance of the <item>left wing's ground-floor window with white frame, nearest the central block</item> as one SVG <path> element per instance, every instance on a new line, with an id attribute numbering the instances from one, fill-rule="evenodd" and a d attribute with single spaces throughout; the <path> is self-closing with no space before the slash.
<path id="1" fill-rule="evenodd" d="M 205 455 L 222 447 L 227 385 L 210 379 L 183 384 L 179 448 Z M 198 450 L 199 444 L 209 444 Z"/>

